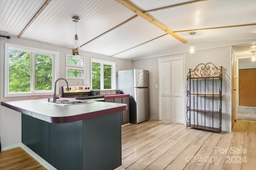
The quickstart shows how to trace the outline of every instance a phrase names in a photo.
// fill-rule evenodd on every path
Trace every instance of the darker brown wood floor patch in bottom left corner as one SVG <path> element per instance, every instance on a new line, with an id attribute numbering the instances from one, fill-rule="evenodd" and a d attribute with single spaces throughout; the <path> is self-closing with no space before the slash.
<path id="1" fill-rule="evenodd" d="M 46 170 L 21 147 L 0 152 L 0 170 Z"/>

